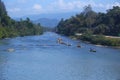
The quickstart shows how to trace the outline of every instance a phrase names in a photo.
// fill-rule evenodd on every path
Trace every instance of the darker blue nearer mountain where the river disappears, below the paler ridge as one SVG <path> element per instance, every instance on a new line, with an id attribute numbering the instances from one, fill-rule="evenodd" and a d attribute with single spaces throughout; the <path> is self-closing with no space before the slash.
<path id="1" fill-rule="evenodd" d="M 33 21 L 35 24 L 40 23 L 43 27 L 54 28 L 59 23 L 58 19 L 49 19 L 49 18 L 40 18 L 38 20 Z"/>

